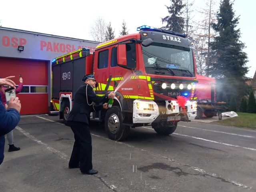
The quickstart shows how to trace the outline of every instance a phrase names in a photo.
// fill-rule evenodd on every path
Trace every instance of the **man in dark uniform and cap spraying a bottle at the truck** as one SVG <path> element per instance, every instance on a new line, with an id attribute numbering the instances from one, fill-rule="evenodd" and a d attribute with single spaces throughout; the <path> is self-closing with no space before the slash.
<path id="1" fill-rule="evenodd" d="M 105 96 L 97 96 L 94 92 L 96 79 L 93 74 L 85 75 L 82 79 L 84 85 L 80 86 L 74 97 L 74 105 L 68 116 L 68 124 L 74 132 L 74 146 L 69 168 L 79 168 L 82 174 L 97 174 L 92 169 L 92 137 L 89 130 L 90 113 L 107 109 L 109 98 L 114 98 L 114 91 Z M 104 103 L 95 105 L 95 103 Z"/>

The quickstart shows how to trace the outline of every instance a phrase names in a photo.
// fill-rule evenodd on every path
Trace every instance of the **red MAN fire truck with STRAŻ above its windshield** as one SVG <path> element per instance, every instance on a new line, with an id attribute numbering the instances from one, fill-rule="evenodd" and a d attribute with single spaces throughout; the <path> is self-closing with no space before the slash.
<path id="1" fill-rule="evenodd" d="M 104 121 L 112 140 L 148 125 L 169 135 L 180 120 L 196 117 L 197 102 L 190 99 L 197 82 L 193 43 L 182 33 L 151 26 L 137 30 L 99 44 L 93 54 L 81 48 L 52 61 L 51 103 L 60 119 L 66 122 L 74 94 L 90 73 L 98 82 L 97 95 L 116 92 L 111 108 L 92 113 Z"/>

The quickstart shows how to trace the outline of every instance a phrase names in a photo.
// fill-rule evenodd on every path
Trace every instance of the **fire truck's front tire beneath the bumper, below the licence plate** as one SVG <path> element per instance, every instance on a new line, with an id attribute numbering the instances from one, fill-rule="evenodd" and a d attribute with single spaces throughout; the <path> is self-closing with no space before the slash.
<path id="1" fill-rule="evenodd" d="M 178 122 L 158 122 L 152 123 L 152 128 L 160 135 L 170 135 L 172 134 L 177 128 Z"/>

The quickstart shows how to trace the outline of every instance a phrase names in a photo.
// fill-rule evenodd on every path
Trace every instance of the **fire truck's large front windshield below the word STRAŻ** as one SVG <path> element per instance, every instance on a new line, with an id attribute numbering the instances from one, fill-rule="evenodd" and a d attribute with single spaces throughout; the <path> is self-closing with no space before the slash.
<path id="1" fill-rule="evenodd" d="M 153 43 L 142 46 L 144 66 L 148 74 L 194 77 L 193 54 L 190 48 Z"/>

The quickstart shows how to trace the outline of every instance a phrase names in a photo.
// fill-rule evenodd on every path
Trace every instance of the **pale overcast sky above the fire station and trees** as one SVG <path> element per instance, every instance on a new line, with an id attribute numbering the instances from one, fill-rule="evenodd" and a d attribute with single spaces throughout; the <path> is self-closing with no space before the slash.
<path id="1" fill-rule="evenodd" d="M 219 8 L 220 0 L 215 1 L 216 8 Z M 194 0 L 194 14 L 198 15 L 197 11 L 204 7 L 205 2 L 205 0 Z M 247 66 L 250 67 L 246 76 L 253 78 L 256 71 L 254 56 L 256 1 L 246 2 L 235 0 L 233 9 L 235 16 L 240 16 L 238 24 L 242 33 L 240 40 L 247 47 L 243 50 L 248 54 Z M 2 27 L 93 40 L 90 29 L 99 17 L 103 18 L 106 24 L 111 22 L 115 35 L 119 36 L 123 20 L 129 33 L 137 32 L 136 28 L 144 24 L 154 27 L 164 26 L 161 18 L 169 15 L 165 5 L 170 6 L 170 4 L 170 0 L 2 0 L 0 20 Z"/>

